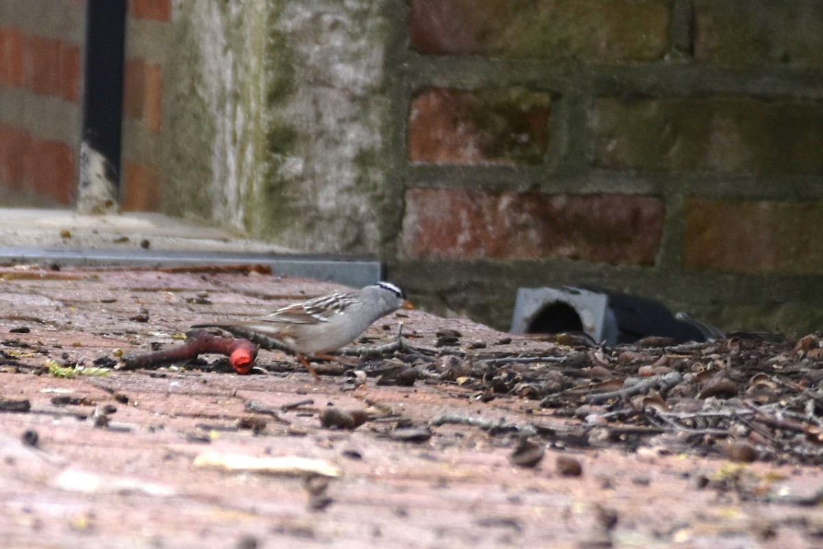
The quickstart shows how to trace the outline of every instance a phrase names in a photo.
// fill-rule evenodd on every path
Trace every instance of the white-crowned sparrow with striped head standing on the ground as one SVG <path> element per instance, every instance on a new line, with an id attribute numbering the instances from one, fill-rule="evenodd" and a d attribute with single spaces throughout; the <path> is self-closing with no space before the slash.
<path id="1" fill-rule="evenodd" d="M 239 337 L 263 335 L 281 342 L 312 371 L 305 355 L 322 355 L 339 349 L 354 341 L 375 320 L 401 307 L 412 309 L 398 286 L 383 281 L 357 291 L 338 291 L 286 305 L 259 319 L 198 324 L 193 328 L 221 328 Z"/>

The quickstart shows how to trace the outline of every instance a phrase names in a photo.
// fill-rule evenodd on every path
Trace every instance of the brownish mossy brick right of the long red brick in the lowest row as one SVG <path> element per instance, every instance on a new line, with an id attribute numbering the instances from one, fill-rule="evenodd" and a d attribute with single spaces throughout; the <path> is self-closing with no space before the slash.
<path id="1" fill-rule="evenodd" d="M 823 272 L 823 202 L 686 202 L 686 268 L 723 272 Z"/>

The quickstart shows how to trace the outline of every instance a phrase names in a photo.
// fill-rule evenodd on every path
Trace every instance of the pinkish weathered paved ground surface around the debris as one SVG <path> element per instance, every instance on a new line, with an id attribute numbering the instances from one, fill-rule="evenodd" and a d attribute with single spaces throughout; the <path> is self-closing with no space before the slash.
<path id="1" fill-rule="evenodd" d="M 294 368 L 58 378 L 26 367 L 91 366 L 119 351 L 177 345 L 175 334 L 193 323 L 263 314 L 335 287 L 241 272 L 0 268 L 0 398 L 31 406 L 0 412 L 0 547 L 820 547 L 819 505 L 744 501 L 695 485 L 702 475 L 751 475 L 803 493 L 823 485 L 816 468 L 738 466 L 653 448 L 564 450 L 539 440 L 546 457 L 524 469 L 508 461 L 514 440 L 472 426 L 432 427 L 422 443 L 388 437 L 398 417 L 425 425 L 444 412 L 516 424 L 576 421 L 513 396 L 479 402 L 453 383 L 315 382 L 270 351 L 261 351 L 258 365 Z M 211 305 L 190 300 L 198 294 Z M 147 322 L 135 319 L 141 309 Z M 551 346 L 522 337 L 498 345 L 507 334 L 421 311 L 375 323 L 370 344 L 391 341 L 400 321 L 418 345 L 457 328 L 463 341 L 501 350 Z M 10 333 L 24 327 L 30 332 Z M 58 396 L 84 400 L 57 406 Z M 245 410 L 252 401 L 277 408 L 305 399 L 313 403 L 278 412 L 281 421 Z M 364 410 L 370 421 L 351 431 L 321 428 L 328 404 Z M 106 405 L 116 412 L 108 428 L 95 427 L 92 412 Z M 267 421 L 265 429 L 238 429 L 250 416 Z M 38 434 L 36 448 L 22 441 L 26 430 Z M 299 477 L 194 466 L 212 451 L 317 458 L 342 477 L 329 481 L 331 502 L 314 509 Z M 582 476 L 560 476 L 560 455 L 578 459 Z M 604 508 L 618 518 L 611 532 L 598 518 Z"/>

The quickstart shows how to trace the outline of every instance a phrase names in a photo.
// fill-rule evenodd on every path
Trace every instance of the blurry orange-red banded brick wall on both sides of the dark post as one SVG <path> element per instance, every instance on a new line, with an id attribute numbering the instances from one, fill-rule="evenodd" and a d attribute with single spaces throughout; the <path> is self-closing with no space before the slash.
<path id="1" fill-rule="evenodd" d="M 81 135 L 82 0 L 7 0 L 0 7 L 0 198 L 69 206 Z M 162 61 L 170 0 L 128 4 L 123 82 L 123 210 L 162 206 Z M 156 40 L 159 38 L 160 40 Z M 135 46 L 137 44 L 137 46 Z M 146 47 L 145 44 L 155 44 Z"/>

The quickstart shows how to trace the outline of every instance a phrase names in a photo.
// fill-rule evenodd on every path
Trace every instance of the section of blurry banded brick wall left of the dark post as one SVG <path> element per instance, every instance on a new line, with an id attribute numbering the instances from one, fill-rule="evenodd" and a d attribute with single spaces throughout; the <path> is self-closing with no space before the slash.
<path id="1" fill-rule="evenodd" d="M 72 202 L 81 14 L 81 2 L 67 0 L 8 0 L 0 9 L 0 193 L 12 203 Z"/>

